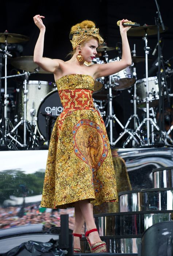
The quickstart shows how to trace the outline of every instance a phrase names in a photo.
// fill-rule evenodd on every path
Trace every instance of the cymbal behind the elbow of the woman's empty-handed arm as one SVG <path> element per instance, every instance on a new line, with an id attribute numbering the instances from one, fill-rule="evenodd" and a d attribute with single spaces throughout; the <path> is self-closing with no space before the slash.
<path id="1" fill-rule="evenodd" d="M 11 64 L 15 68 L 19 68 L 20 70 L 34 72 L 35 68 L 38 68 L 38 65 L 34 63 L 33 56 L 20 56 L 11 59 Z M 40 67 L 39 67 L 40 68 Z M 43 70 L 40 68 L 38 71 L 40 74 L 51 74 L 48 71 Z"/>

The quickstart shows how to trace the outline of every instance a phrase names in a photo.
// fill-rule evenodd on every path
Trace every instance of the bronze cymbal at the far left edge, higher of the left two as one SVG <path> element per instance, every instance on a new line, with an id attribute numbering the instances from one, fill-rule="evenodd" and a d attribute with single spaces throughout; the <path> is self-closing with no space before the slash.
<path id="1" fill-rule="evenodd" d="M 29 37 L 20 34 L 12 33 L 0 33 L 0 42 L 4 43 L 7 39 L 7 43 L 25 42 L 29 40 Z"/>

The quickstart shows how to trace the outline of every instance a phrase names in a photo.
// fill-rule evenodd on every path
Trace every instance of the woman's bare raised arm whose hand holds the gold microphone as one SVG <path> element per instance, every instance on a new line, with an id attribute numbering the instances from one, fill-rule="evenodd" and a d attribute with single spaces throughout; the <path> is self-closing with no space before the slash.
<path id="1" fill-rule="evenodd" d="M 127 39 L 127 31 L 131 27 L 124 27 L 122 23 L 124 21 L 128 21 L 127 19 L 123 19 L 120 21 L 120 34 L 122 38 L 122 59 L 120 61 L 115 61 L 115 62 L 110 62 L 106 64 L 95 64 L 93 65 L 93 68 L 96 69 L 94 77 L 105 77 L 108 75 L 115 74 L 119 72 L 120 70 L 123 70 L 124 68 L 128 67 L 131 65 L 132 60 L 131 60 L 131 52 L 130 52 L 130 47 L 128 44 L 128 39 Z"/>

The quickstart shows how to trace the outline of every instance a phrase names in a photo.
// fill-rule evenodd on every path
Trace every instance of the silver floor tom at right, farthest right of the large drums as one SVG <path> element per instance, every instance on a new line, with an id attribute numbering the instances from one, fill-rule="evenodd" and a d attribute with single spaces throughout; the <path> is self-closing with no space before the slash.
<path id="1" fill-rule="evenodd" d="M 158 105 L 159 86 L 157 77 L 148 78 L 149 107 Z M 146 108 L 146 78 L 136 81 L 138 108 Z"/>

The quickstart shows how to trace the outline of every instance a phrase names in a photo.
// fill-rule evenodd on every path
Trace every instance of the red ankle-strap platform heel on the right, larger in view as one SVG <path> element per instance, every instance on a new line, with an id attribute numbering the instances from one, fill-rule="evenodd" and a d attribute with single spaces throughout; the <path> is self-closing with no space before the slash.
<path id="1" fill-rule="evenodd" d="M 106 243 L 103 242 L 103 241 L 100 241 L 100 242 L 97 242 L 97 243 L 94 243 L 94 244 L 91 244 L 89 238 L 88 238 L 88 235 L 91 233 L 91 232 L 94 232 L 94 231 L 97 231 L 97 229 L 91 229 L 89 231 L 86 231 L 85 233 L 85 237 L 86 237 L 86 240 L 89 244 L 89 248 L 91 250 L 91 252 L 93 253 L 102 253 L 102 252 L 107 252 L 107 249 L 106 249 Z"/>

